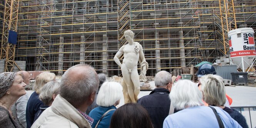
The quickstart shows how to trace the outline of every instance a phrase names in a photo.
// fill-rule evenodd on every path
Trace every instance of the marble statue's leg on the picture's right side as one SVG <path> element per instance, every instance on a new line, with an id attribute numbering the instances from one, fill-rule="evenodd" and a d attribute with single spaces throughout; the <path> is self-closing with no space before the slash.
<path id="1" fill-rule="evenodd" d="M 137 102 L 138 95 L 139 95 L 140 90 L 141 90 L 140 79 L 139 79 L 139 74 L 138 74 L 137 67 L 132 69 L 131 80 L 132 80 L 132 83 L 133 83 L 133 86 L 134 86 L 134 98 Z"/>

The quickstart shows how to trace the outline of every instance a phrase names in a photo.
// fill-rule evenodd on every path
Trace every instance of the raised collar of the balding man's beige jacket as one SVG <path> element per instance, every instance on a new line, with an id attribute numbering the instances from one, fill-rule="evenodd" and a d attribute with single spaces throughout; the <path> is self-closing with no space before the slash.
<path id="1" fill-rule="evenodd" d="M 57 95 L 51 107 L 54 113 L 74 122 L 79 128 L 91 128 L 84 116 L 62 96 Z"/>

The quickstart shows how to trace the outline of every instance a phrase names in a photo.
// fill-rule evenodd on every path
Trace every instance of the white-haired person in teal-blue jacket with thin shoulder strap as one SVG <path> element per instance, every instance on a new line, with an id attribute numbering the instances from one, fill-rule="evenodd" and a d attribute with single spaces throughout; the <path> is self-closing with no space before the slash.
<path id="1" fill-rule="evenodd" d="M 117 82 L 105 82 L 100 87 L 97 96 L 97 108 L 90 111 L 94 119 L 92 128 L 109 128 L 111 117 L 122 98 L 122 86 Z"/>

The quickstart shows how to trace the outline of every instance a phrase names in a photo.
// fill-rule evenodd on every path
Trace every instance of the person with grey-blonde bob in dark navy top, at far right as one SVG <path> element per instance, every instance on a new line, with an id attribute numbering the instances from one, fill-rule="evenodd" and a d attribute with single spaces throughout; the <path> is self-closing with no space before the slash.
<path id="1" fill-rule="evenodd" d="M 239 125 L 243 128 L 248 128 L 244 116 L 235 109 L 224 106 L 226 103 L 226 90 L 222 81 L 223 78 L 218 75 L 204 75 L 201 77 L 201 89 L 203 100 L 211 106 L 218 106 L 226 111 Z"/>

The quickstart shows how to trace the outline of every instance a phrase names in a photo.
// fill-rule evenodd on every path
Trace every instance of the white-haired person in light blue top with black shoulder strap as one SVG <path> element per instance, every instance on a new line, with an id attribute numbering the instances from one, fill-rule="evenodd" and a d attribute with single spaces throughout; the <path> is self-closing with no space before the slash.
<path id="1" fill-rule="evenodd" d="M 172 86 L 170 98 L 181 111 L 167 116 L 163 128 L 242 128 L 221 108 L 203 106 L 202 93 L 190 80 L 179 80 Z"/>

